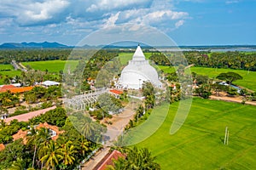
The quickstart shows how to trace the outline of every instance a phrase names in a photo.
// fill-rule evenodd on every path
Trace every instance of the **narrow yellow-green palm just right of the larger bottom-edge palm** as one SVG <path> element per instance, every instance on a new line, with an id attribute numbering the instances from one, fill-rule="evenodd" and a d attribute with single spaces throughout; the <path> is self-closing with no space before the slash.
<path id="1" fill-rule="evenodd" d="M 68 141 L 66 144 L 63 144 L 63 148 L 61 149 L 63 152 L 63 163 L 64 165 L 72 165 L 75 160 L 74 154 L 77 153 L 72 141 Z"/>

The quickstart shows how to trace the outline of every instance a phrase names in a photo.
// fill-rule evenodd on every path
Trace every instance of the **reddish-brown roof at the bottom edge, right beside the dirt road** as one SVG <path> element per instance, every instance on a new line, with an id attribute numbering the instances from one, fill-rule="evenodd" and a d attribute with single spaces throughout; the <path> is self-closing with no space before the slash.
<path id="1" fill-rule="evenodd" d="M 118 160 L 119 157 L 125 157 L 121 152 L 118 150 L 113 150 L 111 154 L 105 156 L 102 161 L 95 167 L 97 170 L 105 170 L 109 165 L 113 165 L 113 160 Z"/>

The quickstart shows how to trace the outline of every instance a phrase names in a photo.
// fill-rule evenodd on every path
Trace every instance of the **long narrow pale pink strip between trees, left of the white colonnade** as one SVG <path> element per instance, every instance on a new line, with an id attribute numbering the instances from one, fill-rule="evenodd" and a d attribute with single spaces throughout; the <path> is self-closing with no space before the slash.
<path id="1" fill-rule="evenodd" d="M 21 122 L 21 121 L 27 122 L 32 117 L 44 114 L 46 111 L 54 110 L 55 108 L 56 108 L 56 106 L 52 106 L 52 107 L 42 109 L 42 110 L 39 110 L 39 111 L 32 111 L 32 112 L 22 114 L 22 115 L 18 115 L 18 116 L 11 116 L 11 117 L 8 117 L 7 119 L 4 119 L 4 122 L 8 123 L 8 122 L 11 122 L 12 120 L 15 120 L 15 119 L 17 119 L 19 122 Z"/>

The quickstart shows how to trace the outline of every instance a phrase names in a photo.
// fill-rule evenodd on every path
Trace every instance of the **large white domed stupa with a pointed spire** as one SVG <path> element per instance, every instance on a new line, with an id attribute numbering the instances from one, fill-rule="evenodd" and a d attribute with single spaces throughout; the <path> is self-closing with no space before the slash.
<path id="1" fill-rule="evenodd" d="M 142 48 L 138 45 L 129 65 L 125 66 L 119 78 L 120 88 L 139 89 L 143 82 L 149 81 L 154 87 L 161 88 L 162 83 L 158 78 L 157 71 L 149 65 L 145 59 Z"/>

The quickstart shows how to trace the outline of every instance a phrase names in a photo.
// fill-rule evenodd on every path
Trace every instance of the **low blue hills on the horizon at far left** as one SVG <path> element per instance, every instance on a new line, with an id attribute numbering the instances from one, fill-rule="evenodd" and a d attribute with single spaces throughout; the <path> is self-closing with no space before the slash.
<path id="1" fill-rule="evenodd" d="M 0 48 L 73 48 L 58 42 L 6 42 Z"/>

